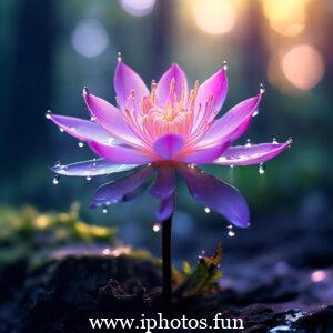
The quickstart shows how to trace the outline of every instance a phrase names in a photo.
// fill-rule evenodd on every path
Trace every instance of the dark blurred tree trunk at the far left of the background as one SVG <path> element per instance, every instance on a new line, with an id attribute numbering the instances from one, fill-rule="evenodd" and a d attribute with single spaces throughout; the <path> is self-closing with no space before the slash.
<path id="1" fill-rule="evenodd" d="M 7 144 L 2 154 L 11 163 L 1 163 L 1 172 L 24 168 L 33 155 L 39 159 L 49 150 L 46 108 L 50 105 L 52 53 L 54 47 L 54 1 L 30 0 L 18 4 L 14 70 L 9 98 Z"/>

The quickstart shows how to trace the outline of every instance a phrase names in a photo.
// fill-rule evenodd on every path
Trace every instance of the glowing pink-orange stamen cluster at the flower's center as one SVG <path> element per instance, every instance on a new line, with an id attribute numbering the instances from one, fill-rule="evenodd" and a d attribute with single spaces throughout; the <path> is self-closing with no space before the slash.
<path id="1" fill-rule="evenodd" d="M 132 91 L 129 97 L 127 122 L 148 145 L 151 145 L 157 138 L 170 133 L 182 135 L 190 145 L 195 143 L 212 124 L 212 115 L 215 115 L 213 97 L 208 99 L 205 105 L 201 105 L 196 103 L 198 81 L 188 97 L 185 97 L 184 87 L 181 89 L 180 97 L 176 95 L 174 87 L 175 80 L 172 79 L 165 102 L 161 104 L 157 97 L 157 83 L 152 81 L 151 92 L 141 100 L 140 110 L 134 107 L 135 92 Z M 202 110 L 203 108 L 205 110 Z M 210 117 L 203 119 L 200 115 L 201 112 Z M 199 125 L 195 127 L 195 123 Z"/>

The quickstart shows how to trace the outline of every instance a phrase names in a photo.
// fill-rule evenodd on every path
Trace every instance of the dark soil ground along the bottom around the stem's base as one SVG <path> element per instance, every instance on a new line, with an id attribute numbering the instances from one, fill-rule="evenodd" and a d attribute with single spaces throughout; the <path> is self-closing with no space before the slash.
<path id="1" fill-rule="evenodd" d="M 1 274 L 1 285 L 6 279 L 11 289 L 1 290 L 0 332 L 93 332 L 89 317 L 158 319 L 159 312 L 164 317 L 184 314 L 209 321 L 221 312 L 222 317 L 243 319 L 242 332 L 333 332 L 332 271 L 310 275 L 283 263 L 253 265 L 256 276 L 251 278 L 245 266 L 234 269 L 234 279 L 222 278 L 220 286 L 204 296 L 174 300 L 172 306 L 159 296 L 160 268 L 151 260 L 71 254 L 31 270 L 24 281 L 20 270 L 11 268 Z"/>

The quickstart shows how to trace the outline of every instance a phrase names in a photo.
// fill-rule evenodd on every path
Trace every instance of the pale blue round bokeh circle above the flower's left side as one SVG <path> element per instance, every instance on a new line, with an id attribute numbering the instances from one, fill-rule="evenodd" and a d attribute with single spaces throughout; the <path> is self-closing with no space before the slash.
<path id="1" fill-rule="evenodd" d="M 109 36 L 99 21 L 82 20 L 72 33 L 72 46 L 78 53 L 93 58 L 105 51 L 109 46 Z"/>

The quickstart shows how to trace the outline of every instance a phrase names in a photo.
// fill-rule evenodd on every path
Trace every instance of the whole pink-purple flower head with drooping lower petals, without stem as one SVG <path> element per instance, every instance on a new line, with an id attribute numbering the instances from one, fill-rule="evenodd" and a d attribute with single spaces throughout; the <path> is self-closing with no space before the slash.
<path id="1" fill-rule="evenodd" d="M 92 205 L 131 200 L 143 192 L 157 172 L 150 194 L 160 200 L 158 221 L 169 219 L 175 205 L 175 172 L 181 174 L 192 196 L 239 226 L 248 226 L 249 209 L 233 186 L 200 171 L 196 165 L 250 165 L 263 163 L 285 150 L 284 143 L 231 147 L 258 113 L 263 91 L 218 118 L 228 92 L 221 68 L 202 84 L 189 89 L 178 64 L 151 83 L 119 59 L 114 74 L 118 107 L 83 89 L 83 98 L 94 121 L 48 113 L 69 134 L 87 141 L 101 159 L 57 165 L 64 175 L 94 176 L 125 172 L 98 189 Z"/>

